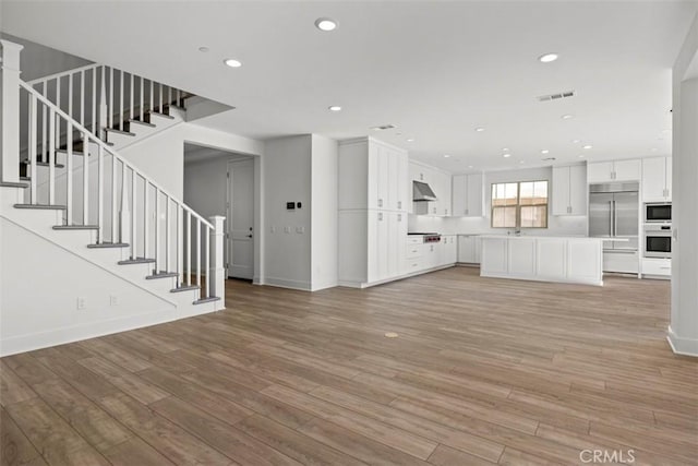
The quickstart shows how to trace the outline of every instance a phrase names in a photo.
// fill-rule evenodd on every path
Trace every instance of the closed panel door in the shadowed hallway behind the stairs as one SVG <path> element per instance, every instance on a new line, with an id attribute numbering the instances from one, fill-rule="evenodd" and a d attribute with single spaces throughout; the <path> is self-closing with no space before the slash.
<path id="1" fill-rule="evenodd" d="M 254 160 L 228 163 L 228 276 L 254 276 Z"/>

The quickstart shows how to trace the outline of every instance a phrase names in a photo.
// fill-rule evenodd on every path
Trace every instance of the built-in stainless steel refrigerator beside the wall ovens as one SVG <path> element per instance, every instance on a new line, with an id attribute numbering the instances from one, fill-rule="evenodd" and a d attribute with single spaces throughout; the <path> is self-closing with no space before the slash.
<path id="1" fill-rule="evenodd" d="M 604 271 L 638 273 L 639 183 L 589 186 L 589 236 L 603 242 Z"/>

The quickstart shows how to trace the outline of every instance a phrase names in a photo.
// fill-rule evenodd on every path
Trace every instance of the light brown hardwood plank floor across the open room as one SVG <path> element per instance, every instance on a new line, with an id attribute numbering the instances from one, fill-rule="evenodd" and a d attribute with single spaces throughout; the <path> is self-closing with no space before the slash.
<path id="1" fill-rule="evenodd" d="M 225 311 L 3 358 L 2 464 L 696 464 L 667 282 L 477 273 L 228 282 Z"/>

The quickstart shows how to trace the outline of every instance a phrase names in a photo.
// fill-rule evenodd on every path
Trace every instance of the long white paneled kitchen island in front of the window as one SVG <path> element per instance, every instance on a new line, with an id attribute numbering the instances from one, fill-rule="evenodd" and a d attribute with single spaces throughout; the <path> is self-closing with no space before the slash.
<path id="1" fill-rule="evenodd" d="M 603 286 L 603 239 L 482 235 L 480 276 Z"/>

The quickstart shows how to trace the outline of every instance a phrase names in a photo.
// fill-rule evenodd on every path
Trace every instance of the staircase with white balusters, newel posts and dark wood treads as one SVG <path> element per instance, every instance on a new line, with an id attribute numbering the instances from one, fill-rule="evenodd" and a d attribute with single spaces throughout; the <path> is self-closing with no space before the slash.
<path id="1" fill-rule="evenodd" d="M 192 95 L 101 64 L 25 83 L 21 46 L 1 44 L 0 219 L 156 295 L 176 310 L 159 321 L 224 309 L 224 217 L 119 154 L 184 121 Z M 5 343 L 0 356 L 27 349 Z"/>

